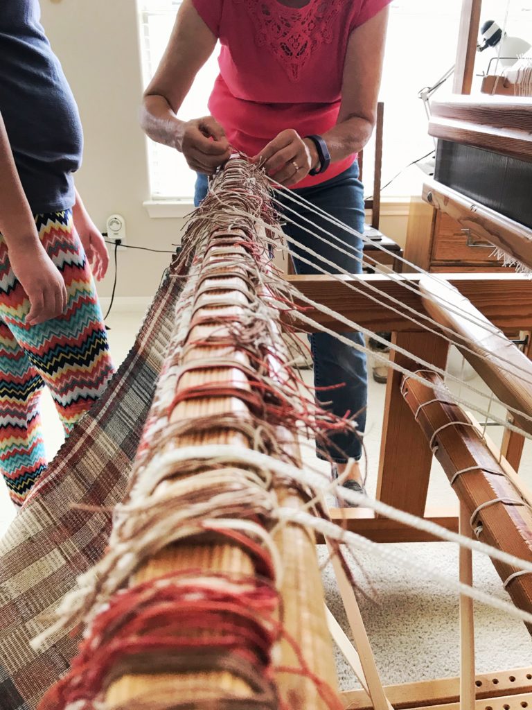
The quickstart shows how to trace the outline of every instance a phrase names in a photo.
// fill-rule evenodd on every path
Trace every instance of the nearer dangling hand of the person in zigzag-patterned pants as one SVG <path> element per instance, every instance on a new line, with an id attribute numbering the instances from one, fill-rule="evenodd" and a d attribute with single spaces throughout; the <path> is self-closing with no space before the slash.
<path id="1" fill-rule="evenodd" d="M 21 239 L 9 249 L 13 273 L 30 300 L 26 325 L 44 323 L 57 318 L 67 306 L 67 289 L 60 271 L 40 241 Z"/>

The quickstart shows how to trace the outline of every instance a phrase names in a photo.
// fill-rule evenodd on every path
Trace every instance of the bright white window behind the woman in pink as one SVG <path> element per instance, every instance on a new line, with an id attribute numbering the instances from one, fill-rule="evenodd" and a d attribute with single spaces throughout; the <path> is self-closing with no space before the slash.
<path id="1" fill-rule="evenodd" d="M 153 76 L 170 38 L 180 0 L 140 0 L 144 80 Z M 453 67 L 462 0 L 394 0 L 391 6 L 381 100 L 384 101 L 384 151 L 382 184 L 400 173 L 383 195 L 405 196 L 421 192 L 423 174 L 416 166 L 405 166 L 433 149 L 428 121 L 419 90 L 431 87 Z M 484 0 L 482 21 L 493 19 L 509 34 L 532 43 L 530 0 L 506 2 Z M 489 52 L 477 55 L 477 73 L 485 72 Z M 492 54 L 493 55 L 493 54 Z M 207 113 L 207 101 L 218 70 L 215 55 L 201 70 L 184 102 L 181 115 L 192 119 Z M 443 84 L 433 100 L 451 92 L 453 79 Z M 367 146 L 364 182 L 367 194 L 372 186 L 373 143 Z M 182 155 L 150 141 L 150 180 L 154 200 L 190 198 L 194 175 Z"/>

